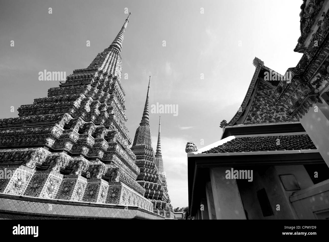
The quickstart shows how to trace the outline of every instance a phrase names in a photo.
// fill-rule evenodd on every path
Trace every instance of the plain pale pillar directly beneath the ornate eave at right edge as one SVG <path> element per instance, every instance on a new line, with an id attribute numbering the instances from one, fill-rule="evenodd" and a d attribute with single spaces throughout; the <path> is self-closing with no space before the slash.
<path id="1" fill-rule="evenodd" d="M 299 121 L 329 167 L 329 120 L 324 115 L 324 113 L 328 112 L 327 106 L 325 102 L 313 104 Z"/>

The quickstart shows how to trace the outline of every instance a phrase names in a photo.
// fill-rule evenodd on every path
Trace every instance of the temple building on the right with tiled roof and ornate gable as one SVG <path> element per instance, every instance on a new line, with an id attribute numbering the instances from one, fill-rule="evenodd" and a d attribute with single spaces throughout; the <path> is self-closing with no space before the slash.
<path id="1" fill-rule="evenodd" d="M 255 58 L 220 140 L 186 145 L 196 219 L 329 219 L 328 10 L 329 1 L 304 0 L 297 66 L 281 75 Z"/>

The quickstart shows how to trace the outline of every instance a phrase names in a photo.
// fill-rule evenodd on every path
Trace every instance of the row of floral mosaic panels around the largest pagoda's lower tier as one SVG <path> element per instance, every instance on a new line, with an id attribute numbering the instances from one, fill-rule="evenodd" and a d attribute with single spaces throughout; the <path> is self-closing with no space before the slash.
<path id="1" fill-rule="evenodd" d="M 1 191 L 28 197 L 138 206 L 153 211 L 151 201 L 121 182 L 111 184 L 109 189 L 109 182 L 101 178 L 87 179 L 81 175 L 63 178 L 57 171 L 26 169 L 25 166 L 8 169 L 13 175 L 10 179 L 0 180 Z"/>

